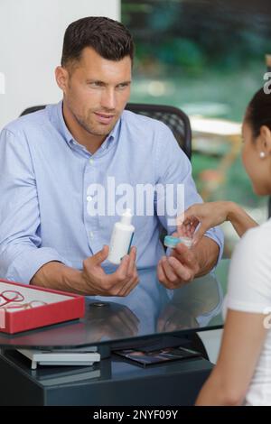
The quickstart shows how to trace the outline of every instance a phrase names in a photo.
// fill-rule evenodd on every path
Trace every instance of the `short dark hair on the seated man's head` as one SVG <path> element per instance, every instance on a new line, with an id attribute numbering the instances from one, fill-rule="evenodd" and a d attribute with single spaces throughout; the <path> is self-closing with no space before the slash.
<path id="1" fill-rule="evenodd" d="M 122 60 L 134 57 L 132 35 L 122 23 L 102 16 L 89 16 L 70 23 L 63 41 L 61 66 L 80 60 L 85 47 L 91 47 L 102 58 Z"/>

